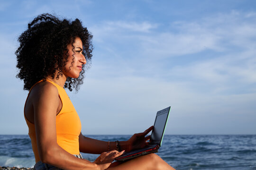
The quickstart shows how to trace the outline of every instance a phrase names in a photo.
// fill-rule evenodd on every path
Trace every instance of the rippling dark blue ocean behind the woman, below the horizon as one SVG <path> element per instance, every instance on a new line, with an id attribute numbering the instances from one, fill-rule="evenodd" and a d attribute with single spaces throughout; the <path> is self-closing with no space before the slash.
<path id="1" fill-rule="evenodd" d="M 88 135 L 128 140 L 128 135 Z M 158 154 L 176 170 L 256 170 L 256 135 L 165 135 Z M 82 153 L 94 161 L 98 155 Z M 0 135 L 0 166 L 33 167 L 28 135 Z"/>

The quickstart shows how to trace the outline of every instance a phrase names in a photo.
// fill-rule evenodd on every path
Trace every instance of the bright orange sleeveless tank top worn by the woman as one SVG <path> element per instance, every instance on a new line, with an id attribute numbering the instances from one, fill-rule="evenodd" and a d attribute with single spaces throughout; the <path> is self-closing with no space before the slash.
<path id="1" fill-rule="evenodd" d="M 37 82 L 40 83 L 43 80 Z M 59 98 L 62 102 L 62 108 L 56 116 L 56 135 L 57 144 L 61 146 L 65 151 L 71 154 L 79 154 L 79 135 L 81 132 L 81 121 L 79 116 L 70 101 L 65 89 L 60 85 L 46 79 L 47 82 L 52 83 L 58 89 Z M 36 83 L 36 84 L 37 84 Z M 35 85 L 36 85 L 35 84 Z M 31 89 L 35 86 L 33 85 Z M 31 91 L 29 90 L 29 93 Z M 29 93 L 27 97 L 29 96 Z M 26 101 L 27 102 L 27 101 Z M 26 106 L 26 103 L 25 103 Z M 25 107 L 24 107 L 25 108 Z M 24 111 L 24 117 L 28 126 L 28 135 L 31 139 L 32 149 L 36 158 L 36 162 L 40 161 L 40 157 L 37 149 L 37 138 L 35 131 L 35 124 L 27 120 Z"/>

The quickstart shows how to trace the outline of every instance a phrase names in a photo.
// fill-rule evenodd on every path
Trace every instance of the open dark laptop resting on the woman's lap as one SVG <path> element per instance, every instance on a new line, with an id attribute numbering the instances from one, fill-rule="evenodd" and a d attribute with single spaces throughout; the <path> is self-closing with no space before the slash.
<path id="1" fill-rule="evenodd" d="M 157 111 L 154 128 L 151 133 L 149 144 L 146 147 L 136 149 L 127 153 L 123 153 L 121 156 L 117 157 L 115 160 L 126 161 L 128 159 L 136 158 L 138 156 L 145 155 L 148 153 L 157 153 L 163 141 L 163 136 L 164 136 L 165 127 L 168 121 L 170 108 L 171 106 L 163 110 Z"/>

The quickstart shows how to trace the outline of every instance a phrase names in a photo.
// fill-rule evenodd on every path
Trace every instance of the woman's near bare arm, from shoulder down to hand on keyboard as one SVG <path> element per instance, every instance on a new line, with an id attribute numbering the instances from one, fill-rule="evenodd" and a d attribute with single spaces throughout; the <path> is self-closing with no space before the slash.
<path id="1" fill-rule="evenodd" d="M 56 110 L 59 106 L 56 87 L 45 83 L 34 88 L 37 94 L 33 98 L 34 121 L 38 153 L 42 162 L 65 170 L 103 170 L 110 164 L 112 158 L 119 156 L 119 153 L 104 153 L 105 156 L 100 160 L 101 165 L 99 165 L 97 162 L 79 159 L 67 153 L 56 142 L 55 122 Z"/>

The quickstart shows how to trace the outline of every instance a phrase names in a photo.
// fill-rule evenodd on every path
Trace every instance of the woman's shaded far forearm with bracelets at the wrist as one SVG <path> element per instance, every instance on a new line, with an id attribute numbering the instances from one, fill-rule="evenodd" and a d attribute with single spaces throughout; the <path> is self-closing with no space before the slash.
<path id="1" fill-rule="evenodd" d="M 110 146 L 110 147 L 109 147 Z M 126 141 L 119 141 L 120 150 L 127 150 Z M 82 153 L 93 153 L 101 154 L 103 152 L 117 150 L 115 142 L 101 141 L 97 139 L 92 139 L 90 137 L 85 137 L 80 134 L 79 136 L 79 149 Z"/>

